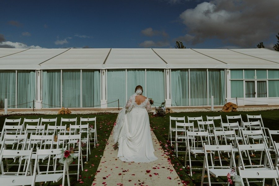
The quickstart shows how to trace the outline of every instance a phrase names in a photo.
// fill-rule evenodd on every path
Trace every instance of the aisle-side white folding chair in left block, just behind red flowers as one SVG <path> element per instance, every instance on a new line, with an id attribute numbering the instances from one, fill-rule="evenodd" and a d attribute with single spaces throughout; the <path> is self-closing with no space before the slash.
<path id="1" fill-rule="evenodd" d="M 82 162 L 82 151 L 81 151 L 81 134 L 78 135 L 58 135 L 58 141 L 63 141 L 62 143 L 62 148 L 65 148 L 68 145 L 68 149 L 70 148 L 70 146 L 72 146 L 73 148 L 76 147 L 76 144 L 78 144 L 78 149 L 74 150 L 74 155 L 78 158 L 78 172 L 77 173 L 73 173 L 73 174 L 77 174 L 77 180 L 79 179 L 79 166 L 81 165 L 81 168 L 83 170 L 83 162 Z M 78 143 L 79 140 L 79 143 Z M 67 144 L 67 141 L 68 144 Z M 58 147 L 59 145 L 57 145 Z M 57 159 L 60 158 L 60 156 L 55 156 L 55 162 Z M 69 165 L 72 166 L 72 165 Z M 74 166 L 74 165 L 73 165 Z M 56 170 L 56 163 L 55 163 L 55 170 Z"/>

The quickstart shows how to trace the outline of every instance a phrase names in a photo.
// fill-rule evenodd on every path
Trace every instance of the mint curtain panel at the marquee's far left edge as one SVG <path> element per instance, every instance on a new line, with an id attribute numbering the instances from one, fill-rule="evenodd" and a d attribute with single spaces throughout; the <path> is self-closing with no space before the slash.
<path id="1" fill-rule="evenodd" d="M 6 98 L 8 105 L 15 105 L 15 70 L 0 70 L 0 108 L 5 107 Z"/>

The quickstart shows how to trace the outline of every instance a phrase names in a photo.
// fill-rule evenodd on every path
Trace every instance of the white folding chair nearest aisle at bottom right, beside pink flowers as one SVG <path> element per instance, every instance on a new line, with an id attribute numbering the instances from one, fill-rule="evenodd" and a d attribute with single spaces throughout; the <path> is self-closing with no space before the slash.
<path id="1" fill-rule="evenodd" d="M 230 162 L 228 165 L 222 165 L 220 161 L 220 165 L 215 165 L 214 162 L 214 156 L 215 152 L 229 152 L 230 153 Z M 203 169 L 202 169 L 202 175 L 201 175 L 201 185 L 203 184 L 224 184 L 227 182 L 211 182 L 210 175 L 214 176 L 215 178 L 220 177 L 220 176 L 225 176 L 227 177 L 228 173 L 231 172 L 231 175 L 237 175 L 236 172 L 233 171 L 233 168 L 236 167 L 235 160 L 234 160 L 234 153 L 232 149 L 232 144 L 229 145 L 206 145 L 204 144 L 204 162 L 203 162 Z M 208 156 L 210 156 L 210 164 L 208 160 Z M 213 156 L 213 157 L 212 157 Z M 208 177 L 208 183 L 204 182 L 204 176 L 205 176 L 205 171 L 207 172 L 207 177 Z"/>

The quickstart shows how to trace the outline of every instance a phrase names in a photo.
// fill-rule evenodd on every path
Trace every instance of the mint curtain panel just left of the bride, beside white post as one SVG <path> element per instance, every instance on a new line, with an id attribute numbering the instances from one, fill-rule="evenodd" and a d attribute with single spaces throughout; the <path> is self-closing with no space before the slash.
<path id="1" fill-rule="evenodd" d="M 107 74 L 108 82 L 108 107 L 123 107 L 126 104 L 126 72 L 125 69 L 109 69 Z M 113 103 L 110 103 L 113 102 Z"/>

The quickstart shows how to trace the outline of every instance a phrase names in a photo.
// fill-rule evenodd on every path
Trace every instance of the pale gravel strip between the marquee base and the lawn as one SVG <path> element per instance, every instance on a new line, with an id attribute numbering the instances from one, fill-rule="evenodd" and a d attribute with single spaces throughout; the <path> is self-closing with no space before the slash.
<path id="1" fill-rule="evenodd" d="M 237 111 L 261 111 L 261 110 L 276 110 L 279 109 L 279 107 L 250 107 L 250 108 L 237 108 Z M 195 108 L 195 109 L 173 109 L 174 113 L 179 112 L 219 112 L 221 108 L 214 108 L 213 111 L 207 108 Z M 154 112 L 152 110 L 151 112 Z M 4 112 L 0 112 L 0 115 L 21 115 L 21 114 L 51 114 L 56 115 L 58 111 L 11 111 L 7 114 L 4 114 Z M 107 110 L 107 111 L 72 111 L 72 114 L 96 114 L 96 113 L 119 113 L 118 110 Z"/>

